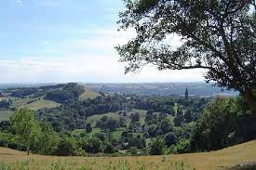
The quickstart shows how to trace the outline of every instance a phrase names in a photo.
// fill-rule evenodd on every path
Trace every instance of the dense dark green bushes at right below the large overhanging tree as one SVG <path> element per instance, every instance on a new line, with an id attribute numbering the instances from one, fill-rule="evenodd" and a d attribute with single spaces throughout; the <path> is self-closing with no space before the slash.
<path id="1" fill-rule="evenodd" d="M 254 139 L 255 122 L 242 98 L 216 98 L 195 124 L 191 150 L 220 150 Z"/>

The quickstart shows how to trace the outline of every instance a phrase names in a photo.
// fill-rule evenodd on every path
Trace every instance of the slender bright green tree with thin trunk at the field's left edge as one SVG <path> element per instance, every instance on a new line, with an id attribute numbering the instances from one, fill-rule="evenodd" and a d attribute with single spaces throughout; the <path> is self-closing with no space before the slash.
<path id="1" fill-rule="evenodd" d="M 10 117 L 11 129 L 27 146 L 27 151 L 38 142 L 40 126 L 34 119 L 34 111 L 27 108 L 15 111 Z"/>

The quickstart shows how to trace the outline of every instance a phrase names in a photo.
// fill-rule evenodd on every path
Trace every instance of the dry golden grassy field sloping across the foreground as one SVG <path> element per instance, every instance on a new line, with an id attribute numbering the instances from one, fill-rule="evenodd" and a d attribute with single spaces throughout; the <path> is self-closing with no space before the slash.
<path id="1" fill-rule="evenodd" d="M 215 170 L 256 161 L 256 140 L 223 150 L 141 157 L 27 156 L 25 152 L 0 148 L 0 169 L 80 170 Z"/>

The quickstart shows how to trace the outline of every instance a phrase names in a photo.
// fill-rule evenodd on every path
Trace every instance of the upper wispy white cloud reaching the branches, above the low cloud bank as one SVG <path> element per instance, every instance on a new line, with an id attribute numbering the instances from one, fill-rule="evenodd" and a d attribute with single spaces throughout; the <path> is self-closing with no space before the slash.
<path id="1" fill-rule="evenodd" d="M 65 50 L 74 52 L 77 50 L 88 53 L 92 50 L 113 52 L 114 47 L 123 45 L 128 42 L 128 39 L 135 36 L 134 31 L 117 32 L 114 29 L 89 29 L 87 31 L 75 31 L 82 34 L 79 38 L 66 39 L 61 42 L 51 42 L 46 40 L 43 42 L 46 50 Z"/>

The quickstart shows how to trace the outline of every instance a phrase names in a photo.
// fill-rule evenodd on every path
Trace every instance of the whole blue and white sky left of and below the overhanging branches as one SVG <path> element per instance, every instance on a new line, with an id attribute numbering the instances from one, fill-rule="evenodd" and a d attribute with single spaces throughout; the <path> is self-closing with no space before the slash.
<path id="1" fill-rule="evenodd" d="M 204 80 L 200 70 L 159 72 L 152 66 L 124 74 L 114 47 L 134 33 L 117 32 L 122 10 L 122 0 L 2 0 L 0 84 Z"/>

